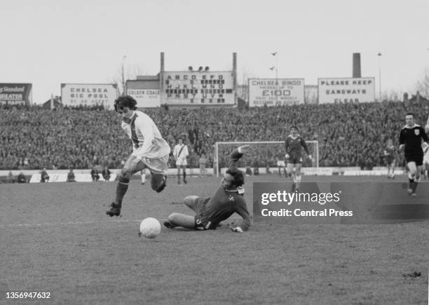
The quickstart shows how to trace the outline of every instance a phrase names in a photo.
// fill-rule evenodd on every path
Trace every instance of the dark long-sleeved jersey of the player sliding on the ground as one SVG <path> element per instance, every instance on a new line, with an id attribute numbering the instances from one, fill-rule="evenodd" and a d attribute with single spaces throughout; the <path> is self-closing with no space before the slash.
<path id="1" fill-rule="evenodd" d="M 229 168 L 236 168 L 236 163 L 243 156 L 236 149 L 229 156 Z M 240 194 L 239 194 L 240 193 Z M 237 213 L 243 217 L 243 222 L 240 224 L 241 229 L 246 231 L 250 227 L 250 214 L 247 211 L 247 205 L 243 196 L 244 189 L 224 189 L 222 186 L 217 189 L 210 200 L 205 205 L 201 216 L 207 221 L 216 225 L 219 222 L 228 219 L 233 213 Z"/>

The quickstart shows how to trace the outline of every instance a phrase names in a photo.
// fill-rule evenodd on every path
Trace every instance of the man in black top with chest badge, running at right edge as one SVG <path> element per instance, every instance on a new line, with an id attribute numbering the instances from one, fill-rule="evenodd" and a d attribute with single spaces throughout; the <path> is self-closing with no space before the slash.
<path id="1" fill-rule="evenodd" d="M 409 187 L 408 194 L 416 195 L 418 182 L 420 182 L 421 168 L 423 165 L 422 141 L 428 143 L 423 127 L 414 123 L 414 114 L 409 112 L 405 115 L 407 125 L 402 128 L 400 133 L 400 151 L 404 149 L 405 161 L 408 167 Z"/>

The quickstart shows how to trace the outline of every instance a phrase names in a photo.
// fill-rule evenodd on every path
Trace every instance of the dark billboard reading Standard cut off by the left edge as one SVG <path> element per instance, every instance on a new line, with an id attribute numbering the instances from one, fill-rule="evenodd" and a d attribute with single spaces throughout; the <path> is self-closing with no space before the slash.
<path id="1" fill-rule="evenodd" d="M 0 104 L 32 104 L 31 83 L 0 83 Z"/>

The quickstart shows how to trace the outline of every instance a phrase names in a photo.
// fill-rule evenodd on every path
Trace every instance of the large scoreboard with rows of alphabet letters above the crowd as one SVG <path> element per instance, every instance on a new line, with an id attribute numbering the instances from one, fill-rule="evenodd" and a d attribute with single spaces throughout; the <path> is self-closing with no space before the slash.
<path id="1" fill-rule="evenodd" d="M 163 103 L 168 105 L 233 105 L 233 72 L 163 72 Z"/>

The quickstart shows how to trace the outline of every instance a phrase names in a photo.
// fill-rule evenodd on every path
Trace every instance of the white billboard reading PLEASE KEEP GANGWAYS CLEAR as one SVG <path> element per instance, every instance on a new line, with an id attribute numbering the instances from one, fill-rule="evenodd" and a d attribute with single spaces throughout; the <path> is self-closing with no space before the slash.
<path id="1" fill-rule="evenodd" d="M 374 102 L 374 77 L 318 79 L 319 104 Z"/>

